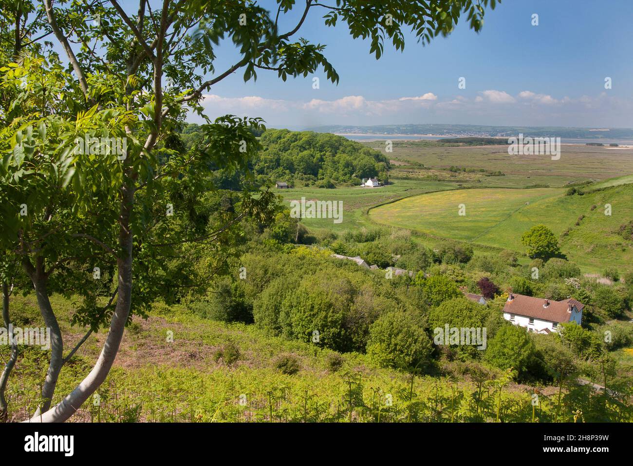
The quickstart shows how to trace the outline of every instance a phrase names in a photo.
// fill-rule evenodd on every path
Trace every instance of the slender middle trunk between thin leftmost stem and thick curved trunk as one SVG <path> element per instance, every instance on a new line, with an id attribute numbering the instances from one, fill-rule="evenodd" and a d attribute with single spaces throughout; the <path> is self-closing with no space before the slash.
<path id="1" fill-rule="evenodd" d="M 35 412 L 35 415 L 39 416 L 40 413 L 48 411 L 49 408 L 51 408 L 51 401 L 53 400 L 57 379 L 60 377 L 61 366 L 64 365 L 64 342 L 61 339 L 60 325 L 58 324 L 55 313 L 53 312 L 51 301 L 48 299 L 46 276 L 44 276 L 41 269 L 38 268 L 31 280 L 33 282 L 33 287 L 35 288 L 37 304 L 40 308 L 42 318 L 44 318 L 44 325 L 51 329 L 51 362 L 48 365 L 46 379 L 44 380 L 44 385 L 42 386 L 42 401 Z"/>

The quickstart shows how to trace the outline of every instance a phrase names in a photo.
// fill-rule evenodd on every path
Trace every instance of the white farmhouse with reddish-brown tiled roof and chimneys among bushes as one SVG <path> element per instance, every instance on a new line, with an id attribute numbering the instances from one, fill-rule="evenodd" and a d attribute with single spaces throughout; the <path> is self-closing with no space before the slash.
<path id="1" fill-rule="evenodd" d="M 573 298 L 563 301 L 535 298 L 510 293 L 503 307 L 503 318 L 514 325 L 527 327 L 530 332 L 558 332 L 559 324 L 575 322 L 580 325 L 584 304 Z"/>

